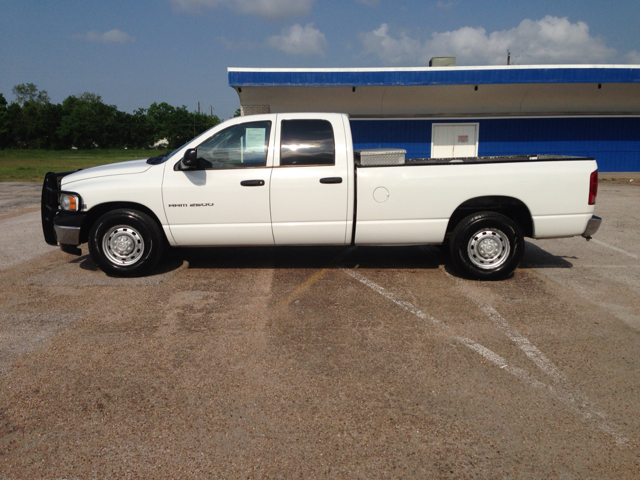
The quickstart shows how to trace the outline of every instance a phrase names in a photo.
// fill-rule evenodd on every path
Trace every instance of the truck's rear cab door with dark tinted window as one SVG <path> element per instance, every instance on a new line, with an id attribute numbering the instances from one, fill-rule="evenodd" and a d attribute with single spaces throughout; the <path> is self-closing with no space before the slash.
<path id="1" fill-rule="evenodd" d="M 276 245 L 344 245 L 349 168 L 341 115 L 278 115 L 271 174 Z"/>

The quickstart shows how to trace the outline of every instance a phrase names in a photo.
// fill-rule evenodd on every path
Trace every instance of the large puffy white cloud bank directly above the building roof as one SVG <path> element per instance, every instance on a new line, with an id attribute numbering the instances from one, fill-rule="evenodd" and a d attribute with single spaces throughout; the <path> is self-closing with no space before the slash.
<path id="1" fill-rule="evenodd" d="M 511 30 L 487 34 L 484 28 L 462 27 L 458 30 L 433 33 L 421 41 L 406 33 L 389 34 L 387 24 L 361 34 L 365 54 L 376 55 L 383 64 L 427 65 L 432 57 L 456 57 L 458 65 L 504 65 L 507 50 L 511 63 L 613 63 L 619 60 L 617 51 L 590 35 L 584 22 L 571 23 L 566 17 L 547 15 L 541 20 L 523 20 Z M 632 61 L 633 52 L 627 54 Z"/>

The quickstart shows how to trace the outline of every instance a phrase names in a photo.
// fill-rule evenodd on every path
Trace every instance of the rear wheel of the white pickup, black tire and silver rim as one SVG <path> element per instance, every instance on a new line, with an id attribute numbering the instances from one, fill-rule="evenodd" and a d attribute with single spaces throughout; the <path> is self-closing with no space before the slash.
<path id="1" fill-rule="evenodd" d="M 524 236 L 509 217 L 478 212 L 456 226 L 450 247 L 453 265 L 463 275 L 476 280 L 501 280 L 520 264 Z"/>

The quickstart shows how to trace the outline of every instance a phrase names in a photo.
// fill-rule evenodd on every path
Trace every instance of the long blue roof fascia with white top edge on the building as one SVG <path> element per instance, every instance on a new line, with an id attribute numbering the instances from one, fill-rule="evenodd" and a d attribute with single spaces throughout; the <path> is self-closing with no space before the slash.
<path id="1" fill-rule="evenodd" d="M 640 83 L 638 66 L 443 67 L 401 69 L 229 68 L 231 87 L 358 87 L 516 83 Z"/>

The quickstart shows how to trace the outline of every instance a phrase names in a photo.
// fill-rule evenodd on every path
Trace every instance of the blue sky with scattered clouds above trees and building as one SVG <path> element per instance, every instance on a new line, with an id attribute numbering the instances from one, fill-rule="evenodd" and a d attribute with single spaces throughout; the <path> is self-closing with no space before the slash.
<path id="1" fill-rule="evenodd" d="M 0 0 L 0 93 L 227 119 L 227 67 L 640 64 L 639 24 L 638 0 Z"/>

